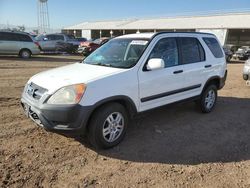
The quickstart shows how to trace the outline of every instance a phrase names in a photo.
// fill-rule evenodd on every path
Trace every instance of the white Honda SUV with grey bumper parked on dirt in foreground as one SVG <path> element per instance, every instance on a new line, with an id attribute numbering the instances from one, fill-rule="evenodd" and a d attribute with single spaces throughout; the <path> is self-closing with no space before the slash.
<path id="1" fill-rule="evenodd" d="M 226 75 L 224 52 L 212 34 L 132 34 L 80 63 L 33 76 L 21 102 L 46 130 L 87 133 L 94 146 L 109 148 L 139 112 L 186 99 L 211 112 Z"/>

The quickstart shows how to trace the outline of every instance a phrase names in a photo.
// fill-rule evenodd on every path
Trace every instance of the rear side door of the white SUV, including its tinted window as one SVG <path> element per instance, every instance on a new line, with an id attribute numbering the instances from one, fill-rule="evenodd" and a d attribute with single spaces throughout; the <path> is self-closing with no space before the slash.
<path id="1" fill-rule="evenodd" d="M 208 77 L 210 65 L 206 62 L 205 50 L 196 37 L 178 37 L 182 70 L 183 95 L 190 98 L 200 95 Z"/>

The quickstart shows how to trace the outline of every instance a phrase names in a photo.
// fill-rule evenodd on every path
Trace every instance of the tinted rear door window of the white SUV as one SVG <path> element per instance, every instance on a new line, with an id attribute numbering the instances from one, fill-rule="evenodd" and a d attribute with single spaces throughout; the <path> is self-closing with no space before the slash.
<path id="1" fill-rule="evenodd" d="M 205 61 L 204 49 L 196 38 L 182 37 L 179 38 L 179 40 L 181 45 L 182 64 Z"/>

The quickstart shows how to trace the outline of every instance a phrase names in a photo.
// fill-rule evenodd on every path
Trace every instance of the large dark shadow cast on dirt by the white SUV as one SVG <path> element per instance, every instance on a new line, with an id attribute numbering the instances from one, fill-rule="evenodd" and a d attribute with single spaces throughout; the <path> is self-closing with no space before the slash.
<path id="1" fill-rule="evenodd" d="M 194 165 L 250 159 L 250 99 L 218 97 L 212 113 L 192 102 L 144 113 L 126 138 L 98 154 L 133 162 Z M 78 139 L 90 147 L 85 140 Z"/>

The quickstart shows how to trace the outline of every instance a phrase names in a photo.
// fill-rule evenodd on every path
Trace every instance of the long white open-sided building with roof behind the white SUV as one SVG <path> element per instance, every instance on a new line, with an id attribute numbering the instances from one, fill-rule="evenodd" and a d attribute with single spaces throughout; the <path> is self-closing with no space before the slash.
<path id="1" fill-rule="evenodd" d="M 243 46 L 250 45 L 250 13 L 84 22 L 62 31 L 88 39 L 136 32 L 197 31 L 215 34 L 223 45 Z"/>

